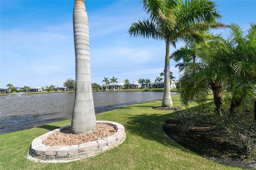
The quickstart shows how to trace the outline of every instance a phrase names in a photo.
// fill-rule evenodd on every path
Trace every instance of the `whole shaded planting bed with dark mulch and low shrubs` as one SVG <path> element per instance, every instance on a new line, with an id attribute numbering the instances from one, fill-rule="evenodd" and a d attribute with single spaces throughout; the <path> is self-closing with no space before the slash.
<path id="1" fill-rule="evenodd" d="M 205 158 L 256 169 L 256 121 L 253 104 L 248 103 L 244 102 L 228 120 L 213 107 L 176 111 L 163 128 L 170 138 Z M 224 106 L 223 113 L 227 111 Z"/>

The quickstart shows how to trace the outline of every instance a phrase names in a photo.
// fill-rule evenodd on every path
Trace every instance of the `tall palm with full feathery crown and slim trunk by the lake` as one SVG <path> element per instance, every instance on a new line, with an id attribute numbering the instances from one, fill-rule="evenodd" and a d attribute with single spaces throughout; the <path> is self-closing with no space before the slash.
<path id="1" fill-rule="evenodd" d="M 154 38 L 166 42 L 164 65 L 164 96 L 163 107 L 172 107 L 170 93 L 170 43 L 175 47 L 179 40 L 202 38 L 198 30 L 217 28 L 216 18 L 221 16 L 216 12 L 214 2 L 208 0 L 142 0 L 143 8 L 150 14 L 150 20 L 144 19 L 133 23 L 129 29 L 130 36 Z M 223 25 L 222 25 L 223 26 Z"/>

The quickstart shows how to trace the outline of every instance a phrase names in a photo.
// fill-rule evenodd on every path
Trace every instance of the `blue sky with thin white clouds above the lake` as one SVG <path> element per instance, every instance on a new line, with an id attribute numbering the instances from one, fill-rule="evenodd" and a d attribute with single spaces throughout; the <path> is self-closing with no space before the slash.
<path id="1" fill-rule="evenodd" d="M 256 0 L 214 2 L 222 15 L 219 22 L 233 22 L 244 30 L 256 22 Z M 122 82 L 160 77 L 165 43 L 127 33 L 132 22 L 147 17 L 140 1 L 86 0 L 85 5 L 92 83 L 112 76 Z M 60 86 L 67 78 L 75 79 L 73 6 L 73 0 L 0 0 L 0 87 Z M 170 71 L 178 79 L 175 64 L 170 61 Z"/>

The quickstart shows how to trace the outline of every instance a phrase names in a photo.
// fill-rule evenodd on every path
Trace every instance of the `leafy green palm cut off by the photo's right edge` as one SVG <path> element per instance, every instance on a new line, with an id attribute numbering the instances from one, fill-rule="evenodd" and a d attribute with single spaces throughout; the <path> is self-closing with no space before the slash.
<path id="1" fill-rule="evenodd" d="M 229 76 L 225 76 L 224 93 L 231 99 L 228 117 L 233 115 L 234 109 L 250 96 L 256 100 L 256 23 L 250 23 L 247 34 L 237 24 L 231 24 L 224 53 Z M 230 76 L 231 75 L 231 76 Z"/>

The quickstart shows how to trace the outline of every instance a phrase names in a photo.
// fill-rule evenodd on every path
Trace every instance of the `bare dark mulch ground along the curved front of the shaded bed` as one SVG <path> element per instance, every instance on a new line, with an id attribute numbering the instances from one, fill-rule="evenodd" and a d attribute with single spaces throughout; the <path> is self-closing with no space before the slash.
<path id="1" fill-rule="evenodd" d="M 164 124 L 166 134 L 192 152 L 220 164 L 256 169 L 256 161 L 246 161 L 237 146 L 224 140 L 212 125 L 200 125 L 183 132 L 180 121 L 168 120 Z"/>

